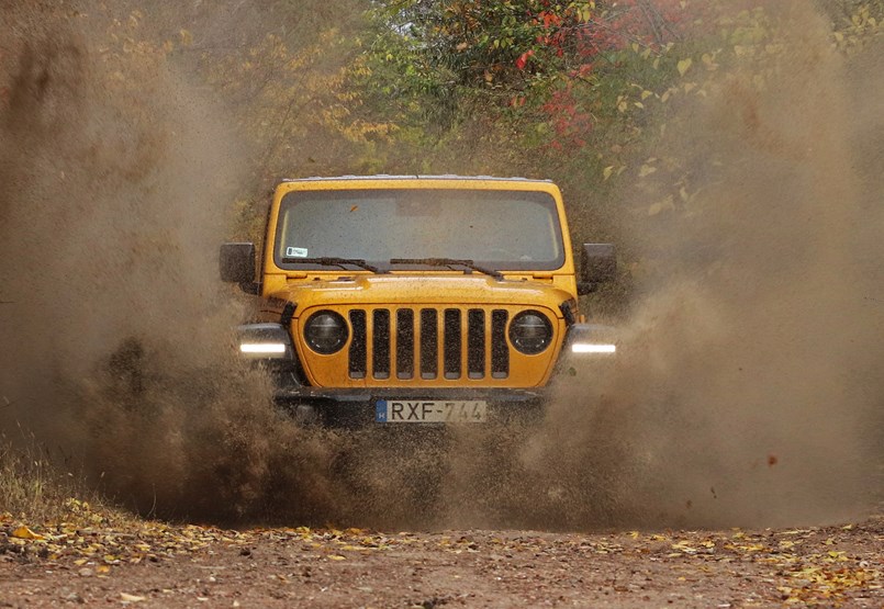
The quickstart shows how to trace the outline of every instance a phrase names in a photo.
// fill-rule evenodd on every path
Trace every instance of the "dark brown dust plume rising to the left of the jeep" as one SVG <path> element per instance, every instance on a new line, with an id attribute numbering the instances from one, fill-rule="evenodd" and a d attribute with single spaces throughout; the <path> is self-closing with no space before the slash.
<path id="1" fill-rule="evenodd" d="M 243 307 L 216 252 L 248 150 L 71 7 L 3 9 L 0 429 L 143 514 L 255 517 L 277 489 L 293 518 L 325 514 L 329 444 L 230 361 Z"/>

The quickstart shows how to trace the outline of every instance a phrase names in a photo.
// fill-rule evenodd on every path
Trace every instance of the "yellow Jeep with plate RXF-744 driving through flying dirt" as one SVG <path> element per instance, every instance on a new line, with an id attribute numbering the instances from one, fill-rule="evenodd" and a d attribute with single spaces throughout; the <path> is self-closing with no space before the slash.
<path id="1" fill-rule="evenodd" d="M 523 178 L 287 180 L 253 244 L 224 244 L 222 280 L 256 295 L 243 358 L 276 401 L 328 425 L 506 420 L 542 411 L 573 357 L 611 358 L 578 295 L 613 279 L 613 247 L 574 272 L 561 193 Z"/>

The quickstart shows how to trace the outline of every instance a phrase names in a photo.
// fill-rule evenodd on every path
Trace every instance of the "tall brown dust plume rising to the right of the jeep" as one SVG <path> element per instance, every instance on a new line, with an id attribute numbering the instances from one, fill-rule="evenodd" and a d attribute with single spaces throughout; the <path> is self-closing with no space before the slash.
<path id="1" fill-rule="evenodd" d="M 766 82 L 723 70 L 652 150 L 695 195 L 626 226 L 652 268 L 618 365 L 562 383 L 526 452 L 575 494 L 567 527 L 808 525 L 881 499 L 884 45 L 844 58 L 809 2 L 768 10 L 790 52 Z"/>

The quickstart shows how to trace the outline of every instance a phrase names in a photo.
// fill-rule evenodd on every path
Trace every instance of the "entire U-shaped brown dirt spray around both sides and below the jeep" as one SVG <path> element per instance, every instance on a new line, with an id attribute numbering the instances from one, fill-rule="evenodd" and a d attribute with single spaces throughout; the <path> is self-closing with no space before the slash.
<path id="1" fill-rule="evenodd" d="M 21 422 L 110 497 L 166 518 L 585 529 L 855 515 L 881 486 L 884 53 L 844 66 L 823 20 L 790 7 L 793 69 L 762 94 L 721 75 L 664 144 L 692 159 L 705 212 L 629 227 L 663 263 L 618 364 L 562 383 L 539 429 L 460 430 L 416 453 L 299 429 L 231 361 L 242 312 L 214 257 L 248 151 L 224 113 L 165 66 L 121 78 L 76 18 L 49 30 L 4 9 L 3 430 Z"/>

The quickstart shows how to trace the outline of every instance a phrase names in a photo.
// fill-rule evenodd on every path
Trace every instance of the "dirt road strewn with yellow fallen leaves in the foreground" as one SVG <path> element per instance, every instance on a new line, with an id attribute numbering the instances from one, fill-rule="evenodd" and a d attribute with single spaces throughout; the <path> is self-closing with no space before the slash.
<path id="1" fill-rule="evenodd" d="M 596 533 L 0 530 L 0 607 L 884 607 L 884 516 Z"/>

